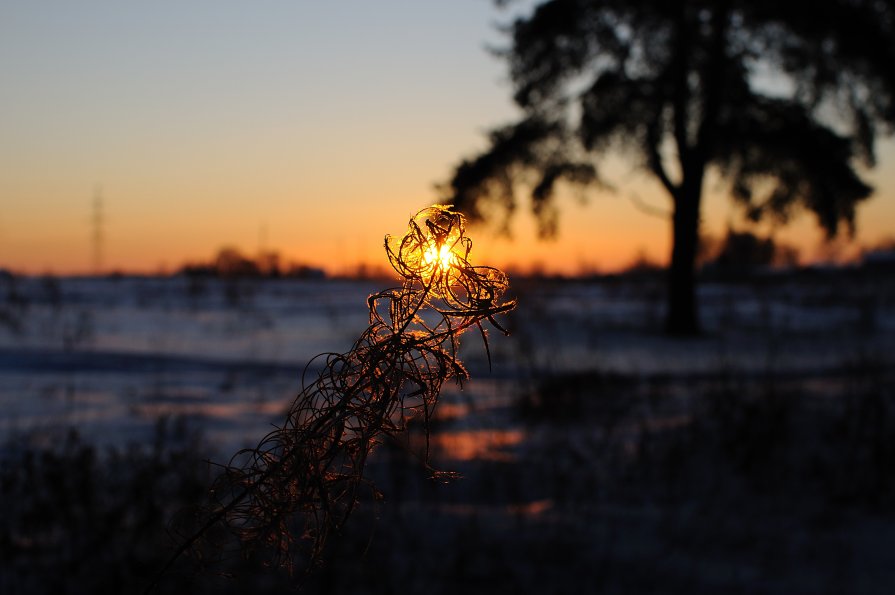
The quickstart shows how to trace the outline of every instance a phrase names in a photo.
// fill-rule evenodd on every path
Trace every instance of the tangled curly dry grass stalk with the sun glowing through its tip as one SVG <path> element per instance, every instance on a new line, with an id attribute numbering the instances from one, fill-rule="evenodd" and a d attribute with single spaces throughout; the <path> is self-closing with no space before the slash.
<path id="1" fill-rule="evenodd" d="M 515 307 L 502 301 L 507 277 L 472 265 L 471 249 L 463 216 L 442 206 L 417 213 L 403 237 L 386 236 L 401 286 L 368 298 L 370 326 L 352 349 L 317 356 L 325 365 L 313 382 L 303 381 L 282 426 L 223 467 L 175 559 L 225 529 L 290 571 L 321 560 L 361 490 L 377 494 L 364 478 L 371 451 L 411 418 L 422 418 L 428 436 L 444 382 L 468 378 L 460 335 L 475 328 L 487 351 L 483 322 L 506 333 L 495 316 Z"/>

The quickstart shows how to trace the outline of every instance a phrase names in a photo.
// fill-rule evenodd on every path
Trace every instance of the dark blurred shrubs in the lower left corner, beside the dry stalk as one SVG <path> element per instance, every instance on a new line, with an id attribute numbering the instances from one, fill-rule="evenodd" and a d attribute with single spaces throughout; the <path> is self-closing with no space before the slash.
<path id="1" fill-rule="evenodd" d="M 168 518 L 204 496 L 201 456 L 165 420 L 151 446 L 100 450 L 74 431 L 5 444 L 0 592 L 138 592 L 167 555 Z"/>

